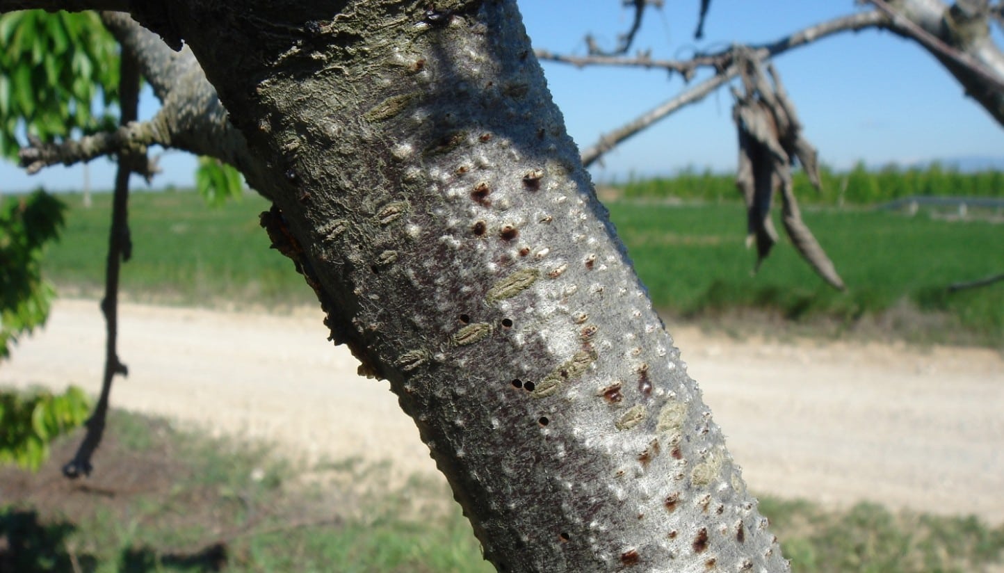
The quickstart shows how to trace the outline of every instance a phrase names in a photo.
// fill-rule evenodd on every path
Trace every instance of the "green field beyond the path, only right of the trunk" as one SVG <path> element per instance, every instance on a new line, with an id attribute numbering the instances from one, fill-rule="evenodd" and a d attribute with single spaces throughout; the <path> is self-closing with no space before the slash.
<path id="1" fill-rule="evenodd" d="M 739 204 L 615 203 L 610 216 L 654 302 L 673 314 L 701 318 L 760 309 L 789 321 L 844 327 L 913 315 L 892 325 L 897 335 L 1004 343 L 1004 283 L 947 290 L 1004 271 L 1000 224 L 865 210 L 807 212 L 806 223 L 847 284 L 837 292 L 786 241 L 751 276 L 755 255 L 743 247 Z"/>

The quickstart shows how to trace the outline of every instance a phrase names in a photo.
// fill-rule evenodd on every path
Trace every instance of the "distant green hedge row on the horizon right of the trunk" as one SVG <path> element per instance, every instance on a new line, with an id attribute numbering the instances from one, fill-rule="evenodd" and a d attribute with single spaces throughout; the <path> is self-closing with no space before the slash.
<path id="1" fill-rule="evenodd" d="M 799 203 L 839 205 L 874 204 L 913 195 L 936 197 L 1004 198 L 1004 172 L 962 173 L 939 164 L 920 168 L 890 166 L 877 171 L 863 164 L 846 172 L 823 167 L 819 173 L 822 192 L 816 193 L 801 170 L 794 175 L 795 195 Z M 735 175 L 697 172 L 686 169 L 671 178 L 630 180 L 613 185 L 628 198 L 708 201 L 719 203 L 739 199 Z"/>

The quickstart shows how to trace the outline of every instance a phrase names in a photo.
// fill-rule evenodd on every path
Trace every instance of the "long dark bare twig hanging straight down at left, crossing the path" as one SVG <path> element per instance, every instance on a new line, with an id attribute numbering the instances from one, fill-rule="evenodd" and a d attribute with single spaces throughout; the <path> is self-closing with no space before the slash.
<path id="1" fill-rule="evenodd" d="M 119 105 L 121 107 L 121 124 L 136 121 L 140 102 L 140 67 L 128 49 L 122 49 L 120 71 L 118 78 Z M 104 423 L 108 411 L 108 396 L 111 393 L 111 380 L 115 374 L 129 375 L 129 369 L 118 359 L 116 340 L 118 334 L 118 276 L 121 263 L 129 261 L 133 255 L 133 242 L 129 230 L 129 178 L 139 165 L 147 162 L 146 154 L 130 151 L 118 155 L 118 171 L 115 174 L 115 193 L 111 205 L 111 231 L 108 236 L 107 266 L 104 274 L 104 298 L 101 300 L 101 311 L 107 327 L 107 340 L 104 346 L 104 376 L 101 381 L 101 394 L 94 406 L 94 412 L 87 419 L 87 433 L 83 437 L 76 455 L 63 466 L 63 475 L 67 478 L 88 476 L 91 471 L 90 459 L 101 443 L 104 434 Z"/>

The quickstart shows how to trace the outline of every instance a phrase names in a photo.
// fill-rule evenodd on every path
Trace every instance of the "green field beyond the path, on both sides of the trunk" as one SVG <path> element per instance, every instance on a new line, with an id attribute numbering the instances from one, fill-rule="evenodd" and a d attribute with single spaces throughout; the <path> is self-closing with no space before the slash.
<path id="1" fill-rule="evenodd" d="M 70 206 L 44 272 L 64 294 L 100 293 L 110 197 Z M 257 196 L 208 208 L 194 193 L 137 193 L 134 257 L 122 271 L 129 299 L 168 304 L 313 304 L 313 293 L 258 227 Z M 675 318 L 724 320 L 751 309 L 826 332 L 881 324 L 918 341 L 1004 344 L 1004 283 L 950 294 L 947 286 L 1004 272 L 1004 225 L 864 209 L 804 214 L 848 289 L 825 286 L 784 240 L 751 276 L 738 204 L 609 205 L 656 305 Z M 725 318 L 723 318 L 725 317 Z M 776 321 L 775 321 L 776 322 Z M 817 329 L 818 330 L 818 329 Z"/>

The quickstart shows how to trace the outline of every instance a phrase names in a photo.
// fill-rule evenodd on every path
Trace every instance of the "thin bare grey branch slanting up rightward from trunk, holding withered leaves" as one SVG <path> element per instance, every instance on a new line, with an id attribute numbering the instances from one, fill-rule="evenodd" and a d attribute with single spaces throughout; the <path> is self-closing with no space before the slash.
<path id="1" fill-rule="evenodd" d="M 677 109 L 704 99 L 709 93 L 727 83 L 739 74 L 740 66 L 737 65 L 736 61 L 741 53 L 747 54 L 747 57 L 765 61 L 790 49 L 809 44 L 839 32 L 857 31 L 862 28 L 881 26 L 886 22 L 886 15 L 877 11 L 861 12 L 809 26 L 769 44 L 761 44 L 753 47 L 733 46 L 716 56 L 707 56 L 708 58 L 717 58 L 716 67 L 723 66 L 717 75 L 647 111 L 613 131 L 603 133 L 595 144 L 582 152 L 582 164 L 585 167 L 590 166 L 602 157 L 603 154 L 609 152 L 632 135 L 656 123 Z M 723 65 L 725 63 L 728 64 L 727 67 Z"/>

